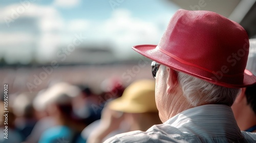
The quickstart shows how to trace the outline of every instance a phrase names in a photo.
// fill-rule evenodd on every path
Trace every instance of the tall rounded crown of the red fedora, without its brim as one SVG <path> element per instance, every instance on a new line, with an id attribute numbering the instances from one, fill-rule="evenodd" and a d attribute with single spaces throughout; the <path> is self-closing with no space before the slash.
<path id="1" fill-rule="evenodd" d="M 243 82 L 249 41 L 237 22 L 210 11 L 178 10 L 161 38 L 160 51 L 183 64 Z"/>

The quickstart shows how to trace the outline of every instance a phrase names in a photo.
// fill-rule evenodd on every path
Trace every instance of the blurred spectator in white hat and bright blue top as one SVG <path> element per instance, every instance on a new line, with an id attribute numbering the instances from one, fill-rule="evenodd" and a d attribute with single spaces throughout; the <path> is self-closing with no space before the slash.
<path id="1" fill-rule="evenodd" d="M 80 137 L 84 126 L 76 122 L 71 104 L 72 99 L 79 94 L 79 88 L 68 83 L 57 83 L 41 91 L 34 100 L 34 107 L 46 113 L 40 115 L 26 142 L 84 142 Z"/>

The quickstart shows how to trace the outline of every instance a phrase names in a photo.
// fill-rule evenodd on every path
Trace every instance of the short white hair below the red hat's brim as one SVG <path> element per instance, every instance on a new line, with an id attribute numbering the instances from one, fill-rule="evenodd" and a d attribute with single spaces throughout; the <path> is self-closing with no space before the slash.
<path id="1" fill-rule="evenodd" d="M 166 67 L 164 66 L 166 69 Z M 166 71 L 163 68 L 162 71 Z M 184 97 L 192 106 L 202 104 L 225 104 L 231 106 L 240 88 L 228 88 L 176 71 Z"/>

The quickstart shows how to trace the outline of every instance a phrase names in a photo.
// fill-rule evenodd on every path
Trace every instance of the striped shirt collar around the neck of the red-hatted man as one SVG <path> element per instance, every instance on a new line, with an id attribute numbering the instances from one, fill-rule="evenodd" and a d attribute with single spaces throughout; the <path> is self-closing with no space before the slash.
<path id="1" fill-rule="evenodd" d="M 169 124 L 183 132 L 201 136 L 229 136 L 240 135 L 231 107 L 221 104 L 208 104 L 187 109 L 167 120 Z"/>

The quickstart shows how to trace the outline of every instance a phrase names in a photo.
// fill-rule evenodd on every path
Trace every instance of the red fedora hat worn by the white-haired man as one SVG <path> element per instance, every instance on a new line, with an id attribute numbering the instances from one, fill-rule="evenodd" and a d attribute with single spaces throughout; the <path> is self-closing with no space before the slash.
<path id="1" fill-rule="evenodd" d="M 237 22 L 215 12 L 178 10 L 158 45 L 136 45 L 141 55 L 220 86 L 256 83 L 246 70 L 249 39 Z"/>

